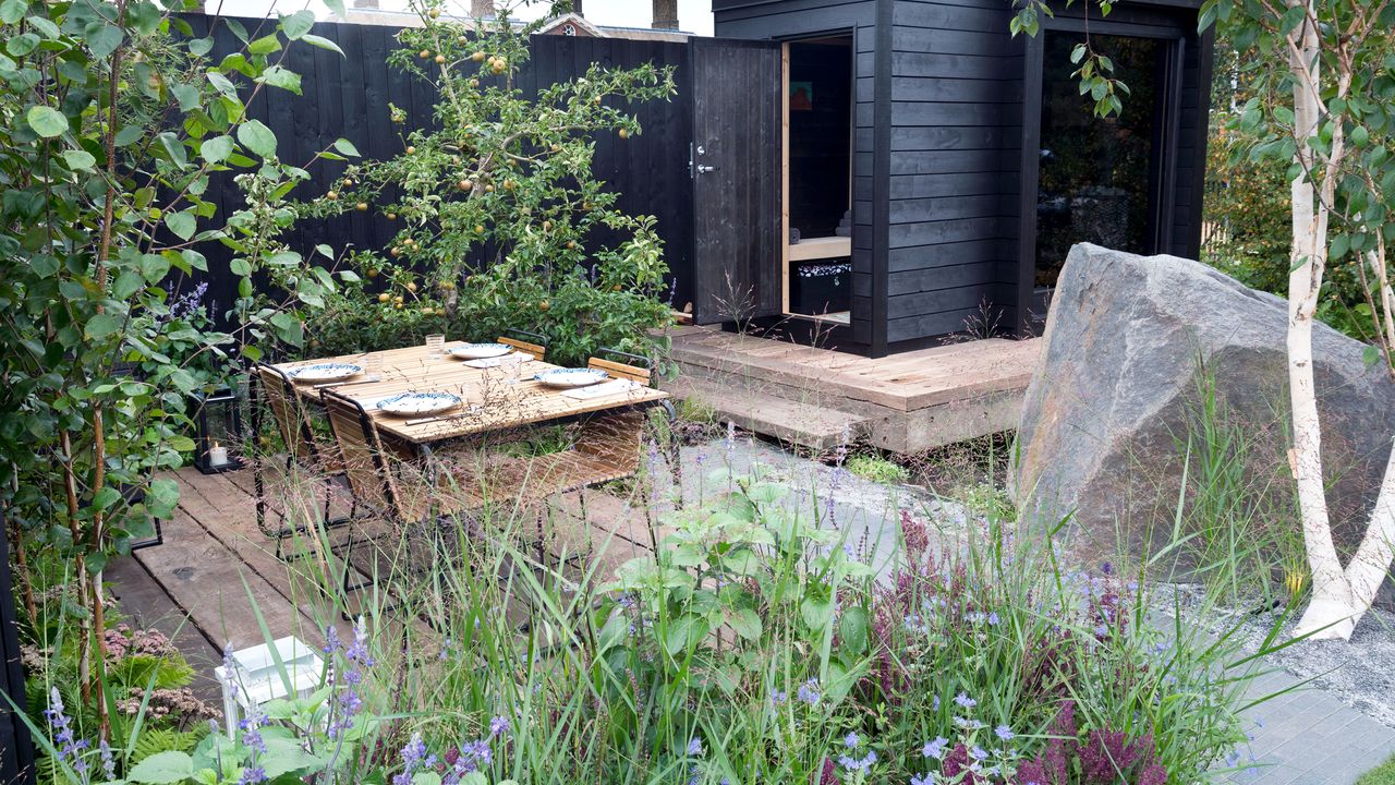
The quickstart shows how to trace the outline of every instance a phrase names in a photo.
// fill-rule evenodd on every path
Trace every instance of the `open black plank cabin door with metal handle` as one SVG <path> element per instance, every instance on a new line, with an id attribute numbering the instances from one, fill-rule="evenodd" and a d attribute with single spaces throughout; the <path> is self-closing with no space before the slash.
<path id="1" fill-rule="evenodd" d="M 689 39 L 693 320 L 781 311 L 780 45 Z"/>

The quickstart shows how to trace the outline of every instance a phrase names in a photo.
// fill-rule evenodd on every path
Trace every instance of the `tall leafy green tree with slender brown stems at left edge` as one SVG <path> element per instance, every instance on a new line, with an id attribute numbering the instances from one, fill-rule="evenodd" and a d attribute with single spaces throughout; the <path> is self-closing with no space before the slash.
<path id="1" fill-rule="evenodd" d="M 73 564 L 85 704 L 103 566 L 173 511 L 177 487 L 156 474 L 194 447 L 190 397 L 227 376 L 239 342 L 258 356 L 243 338 L 299 342 L 296 303 L 333 286 L 278 239 L 293 219 L 285 196 L 308 175 L 246 112 L 264 89 L 299 91 L 285 46 L 332 45 L 306 10 L 259 38 L 226 22 L 243 46 L 213 61 L 212 38 L 179 15 L 198 8 L 0 3 L 0 506 L 24 546 Z M 219 217 L 209 187 L 230 172 L 247 207 Z M 233 250 L 239 335 L 209 330 L 188 299 L 204 242 Z M 258 274 L 290 303 L 258 296 Z"/>

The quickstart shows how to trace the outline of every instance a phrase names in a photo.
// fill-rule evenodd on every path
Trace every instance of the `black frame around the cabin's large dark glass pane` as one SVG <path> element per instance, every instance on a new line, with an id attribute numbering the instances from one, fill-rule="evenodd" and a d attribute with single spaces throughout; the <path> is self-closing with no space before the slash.
<path id="1" fill-rule="evenodd" d="M 1041 130 L 1042 130 L 1042 77 L 1048 32 L 1089 32 L 1120 38 L 1147 38 L 1166 42 L 1163 71 L 1166 82 L 1162 117 L 1163 144 L 1159 151 L 1158 194 L 1161 201 L 1154 208 L 1156 223 L 1151 242 L 1158 246 L 1155 253 L 1172 253 L 1172 223 L 1177 201 L 1177 137 L 1182 123 L 1183 63 L 1186 59 L 1187 31 L 1140 25 L 1127 21 L 1081 20 L 1070 17 L 1046 17 L 1038 35 L 1028 36 L 1023 73 L 1023 147 L 1021 147 L 1021 190 L 1017 201 L 1017 331 L 1027 334 L 1031 327 L 1031 307 L 1036 299 L 1036 197 L 1041 187 Z M 1152 194 L 1151 194 L 1152 196 Z"/>

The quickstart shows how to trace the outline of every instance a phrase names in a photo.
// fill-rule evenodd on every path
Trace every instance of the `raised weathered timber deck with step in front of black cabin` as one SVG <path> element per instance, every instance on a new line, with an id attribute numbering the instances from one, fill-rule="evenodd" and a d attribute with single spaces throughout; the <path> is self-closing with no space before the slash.
<path id="1" fill-rule="evenodd" d="M 917 453 L 1016 427 L 1039 351 L 1039 339 L 989 338 L 872 359 L 685 328 L 672 355 L 696 380 L 679 394 L 744 427 L 826 448 L 830 423 L 843 422 L 852 437 Z"/>

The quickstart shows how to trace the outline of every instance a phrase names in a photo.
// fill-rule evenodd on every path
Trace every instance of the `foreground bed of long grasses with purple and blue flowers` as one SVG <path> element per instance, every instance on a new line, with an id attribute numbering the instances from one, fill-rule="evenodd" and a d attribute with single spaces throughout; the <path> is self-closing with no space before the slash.
<path id="1" fill-rule="evenodd" d="M 432 573 L 406 606 L 340 595 L 363 617 L 318 641 L 318 689 L 126 781 L 1182 784 L 1244 742 L 1236 647 L 1057 567 L 1049 532 L 907 508 L 877 575 L 820 489 L 709 471 L 614 577 L 618 541 L 536 562 L 526 515 L 405 532 Z M 60 781 L 99 781 L 49 722 Z"/>

